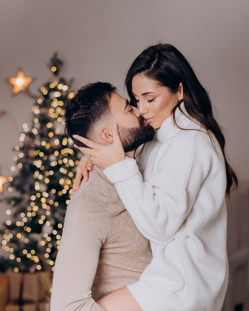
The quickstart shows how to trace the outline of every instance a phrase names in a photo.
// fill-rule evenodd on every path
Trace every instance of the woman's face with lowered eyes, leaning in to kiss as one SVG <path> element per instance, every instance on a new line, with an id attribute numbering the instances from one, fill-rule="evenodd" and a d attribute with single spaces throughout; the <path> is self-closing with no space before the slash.
<path id="1" fill-rule="evenodd" d="M 131 85 L 139 114 L 154 129 L 161 127 L 179 100 L 183 99 L 182 83 L 175 94 L 172 94 L 168 87 L 159 85 L 143 74 L 134 76 Z"/>

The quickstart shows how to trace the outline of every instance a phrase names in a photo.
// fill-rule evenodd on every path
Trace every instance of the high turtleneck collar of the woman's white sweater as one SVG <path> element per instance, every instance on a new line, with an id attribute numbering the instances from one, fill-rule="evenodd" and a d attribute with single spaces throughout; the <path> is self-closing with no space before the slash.
<path id="1" fill-rule="evenodd" d="M 187 115 L 187 111 L 184 106 L 184 102 L 180 104 L 182 111 Z M 184 128 L 187 122 L 191 122 L 182 111 L 177 107 L 175 111 L 175 119 L 177 124 Z M 173 120 L 173 115 L 170 115 L 161 125 L 161 127 L 156 130 L 156 138 L 160 143 L 166 142 L 169 138 L 175 136 L 180 131 L 179 128 L 176 127 Z"/>

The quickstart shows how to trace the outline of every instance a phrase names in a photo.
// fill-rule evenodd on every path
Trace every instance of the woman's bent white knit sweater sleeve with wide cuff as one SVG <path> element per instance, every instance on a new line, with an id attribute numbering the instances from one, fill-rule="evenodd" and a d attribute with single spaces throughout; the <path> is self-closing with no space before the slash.
<path id="1" fill-rule="evenodd" d="M 154 242 L 167 241 L 178 231 L 210 169 L 206 134 L 191 132 L 175 137 L 174 144 L 162 144 L 153 163 L 156 172 L 146 182 L 134 159 L 104 170 L 138 230 Z"/>

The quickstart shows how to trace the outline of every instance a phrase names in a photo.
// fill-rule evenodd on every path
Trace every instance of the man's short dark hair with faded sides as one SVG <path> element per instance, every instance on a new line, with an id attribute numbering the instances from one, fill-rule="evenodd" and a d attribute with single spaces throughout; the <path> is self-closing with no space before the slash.
<path id="1" fill-rule="evenodd" d="M 82 86 L 64 108 L 65 133 L 79 147 L 87 147 L 75 140 L 77 134 L 91 139 L 95 125 L 111 114 L 110 99 L 117 88 L 108 82 L 88 83 Z"/>

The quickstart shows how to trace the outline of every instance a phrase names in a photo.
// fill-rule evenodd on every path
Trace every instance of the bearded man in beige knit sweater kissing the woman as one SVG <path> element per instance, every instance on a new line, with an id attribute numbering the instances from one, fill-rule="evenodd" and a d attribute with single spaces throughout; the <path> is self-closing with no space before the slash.
<path id="1" fill-rule="evenodd" d="M 106 145 L 113 143 L 117 124 L 126 153 L 155 135 L 116 88 L 104 82 L 77 92 L 65 107 L 65 123 L 73 140 L 78 134 Z M 138 281 L 151 259 L 149 241 L 135 227 L 114 184 L 95 166 L 67 208 L 51 311 L 103 311 L 96 301 Z"/>

